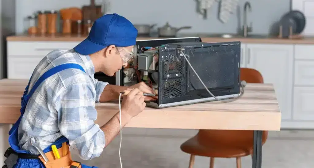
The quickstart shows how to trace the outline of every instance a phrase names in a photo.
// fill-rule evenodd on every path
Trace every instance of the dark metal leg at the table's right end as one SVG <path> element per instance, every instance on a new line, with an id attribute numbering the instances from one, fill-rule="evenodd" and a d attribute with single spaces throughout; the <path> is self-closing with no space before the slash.
<path id="1" fill-rule="evenodd" d="M 262 168 L 262 136 L 263 131 L 253 133 L 253 161 L 252 168 Z"/>

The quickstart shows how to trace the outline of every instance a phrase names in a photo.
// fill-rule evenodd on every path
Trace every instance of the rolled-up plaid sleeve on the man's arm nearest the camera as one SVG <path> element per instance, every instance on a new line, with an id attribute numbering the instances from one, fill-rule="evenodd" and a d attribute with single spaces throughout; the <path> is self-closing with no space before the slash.
<path id="1" fill-rule="evenodd" d="M 83 160 L 99 157 L 105 148 L 105 134 L 94 122 L 97 118 L 97 94 L 93 87 L 91 82 L 71 84 L 55 104 L 59 130 Z"/>

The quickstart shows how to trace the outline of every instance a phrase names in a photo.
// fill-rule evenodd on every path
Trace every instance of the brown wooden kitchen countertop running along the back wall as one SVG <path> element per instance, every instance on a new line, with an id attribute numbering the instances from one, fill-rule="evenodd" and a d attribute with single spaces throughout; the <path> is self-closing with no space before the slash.
<path id="1" fill-rule="evenodd" d="M 301 39 L 280 39 L 280 38 L 219 38 L 206 37 L 206 35 L 184 35 L 182 37 L 201 37 L 203 42 L 228 42 L 241 41 L 242 43 L 273 43 L 273 44 L 314 44 L 314 37 L 304 37 Z M 7 41 L 83 41 L 86 36 L 76 35 L 16 35 L 8 36 Z M 157 39 L 157 37 L 137 38 L 137 40 Z"/>

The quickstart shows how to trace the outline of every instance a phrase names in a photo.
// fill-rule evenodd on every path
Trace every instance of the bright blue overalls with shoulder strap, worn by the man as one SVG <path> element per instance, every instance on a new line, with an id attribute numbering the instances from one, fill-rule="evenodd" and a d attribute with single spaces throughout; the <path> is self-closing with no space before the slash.
<path id="1" fill-rule="evenodd" d="M 32 87 L 32 89 L 30 90 L 30 92 L 27 94 L 28 92 L 28 88 L 30 85 L 30 81 L 27 84 L 23 97 L 22 97 L 22 101 L 21 101 L 21 116 L 19 117 L 19 119 L 16 121 L 16 123 L 13 125 L 13 127 L 11 128 L 11 130 L 9 131 L 9 144 L 11 146 L 11 148 L 17 152 L 17 153 L 26 153 L 26 154 L 30 154 L 31 153 L 29 151 L 26 150 L 21 150 L 19 148 L 19 140 L 18 140 L 18 128 L 19 128 L 19 124 L 20 121 L 22 119 L 22 116 L 25 112 L 25 108 L 27 105 L 28 100 L 30 99 L 30 97 L 32 96 L 32 94 L 35 92 L 35 90 L 37 89 L 37 87 L 43 82 L 45 81 L 47 78 L 49 78 L 51 75 L 56 74 L 64 69 L 70 69 L 70 68 L 74 68 L 74 69 L 80 69 L 83 72 L 85 72 L 85 70 L 78 64 L 72 64 L 72 63 L 68 63 L 68 64 L 62 64 L 62 65 L 58 65 L 50 70 L 48 70 L 46 73 L 44 73 L 34 84 L 34 86 Z M 31 80 L 31 78 L 30 78 Z M 62 147 L 62 143 L 63 142 L 68 142 L 68 139 L 64 136 L 62 136 L 59 140 L 57 140 L 56 142 L 54 142 L 51 145 L 56 145 L 57 148 Z M 43 150 L 44 153 L 51 151 L 51 146 L 48 146 L 46 149 Z M 39 159 L 23 159 L 23 158 L 19 158 L 16 162 L 16 164 L 14 165 L 14 168 L 45 168 L 44 164 L 41 162 L 41 160 Z M 95 166 L 90 167 L 87 165 L 82 165 L 82 168 L 97 168 Z"/>

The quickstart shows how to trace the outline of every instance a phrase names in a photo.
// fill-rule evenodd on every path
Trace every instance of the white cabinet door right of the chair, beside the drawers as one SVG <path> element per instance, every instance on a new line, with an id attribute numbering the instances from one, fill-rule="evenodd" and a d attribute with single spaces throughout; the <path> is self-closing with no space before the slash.
<path id="1" fill-rule="evenodd" d="M 281 119 L 291 119 L 293 87 L 293 45 L 247 44 L 248 68 L 258 70 L 264 83 L 272 83 L 281 110 Z"/>

